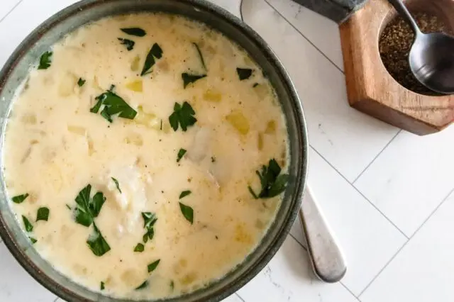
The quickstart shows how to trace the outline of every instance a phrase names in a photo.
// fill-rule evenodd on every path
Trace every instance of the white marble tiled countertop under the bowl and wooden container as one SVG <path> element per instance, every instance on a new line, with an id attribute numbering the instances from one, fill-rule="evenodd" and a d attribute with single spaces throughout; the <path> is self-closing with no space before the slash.
<path id="1" fill-rule="evenodd" d="M 74 0 L 0 0 L 0 66 L 39 23 Z M 217 0 L 238 11 L 238 2 Z M 419 137 L 348 106 L 336 23 L 290 0 L 243 0 L 297 86 L 309 129 L 309 180 L 348 272 L 311 272 L 297 221 L 270 264 L 227 302 L 454 301 L 454 126 Z M 60 301 L 0 240 L 0 301 Z"/>

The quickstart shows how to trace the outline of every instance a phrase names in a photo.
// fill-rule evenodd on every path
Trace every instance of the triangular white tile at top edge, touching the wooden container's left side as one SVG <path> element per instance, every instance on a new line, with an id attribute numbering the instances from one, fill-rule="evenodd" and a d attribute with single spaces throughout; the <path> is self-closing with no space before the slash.
<path id="1" fill-rule="evenodd" d="M 333 64 L 343 70 L 341 37 L 336 22 L 306 9 L 292 0 L 266 1 L 319 48 Z"/>

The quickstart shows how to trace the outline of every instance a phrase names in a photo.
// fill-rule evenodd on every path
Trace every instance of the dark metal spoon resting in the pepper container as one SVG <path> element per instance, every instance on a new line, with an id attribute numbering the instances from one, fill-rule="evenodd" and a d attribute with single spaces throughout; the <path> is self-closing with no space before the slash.
<path id="1" fill-rule="evenodd" d="M 422 33 L 401 0 L 389 0 L 409 23 L 415 40 L 409 53 L 414 77 L 428 89 L 440 94 L 454 94 L 454 37 L 445 33 Z"/>

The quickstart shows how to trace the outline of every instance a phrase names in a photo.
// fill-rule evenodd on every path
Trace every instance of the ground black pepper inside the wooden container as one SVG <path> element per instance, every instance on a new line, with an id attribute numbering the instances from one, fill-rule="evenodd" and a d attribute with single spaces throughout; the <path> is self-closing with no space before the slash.
<path id="1" fill-rule="evenodd" d="M 414 18 L 423 33 L 451 33 L 445 23 L 429 13 L 414 13 Z M 410 26 L 397 16 L 384 28 L 380 36 L 379 50 L 384 67 L 399 84 L 418 94 L 434 95 L 433 91 L 420 84 L 411 74 L 408 56 L 414 33 Z"/>

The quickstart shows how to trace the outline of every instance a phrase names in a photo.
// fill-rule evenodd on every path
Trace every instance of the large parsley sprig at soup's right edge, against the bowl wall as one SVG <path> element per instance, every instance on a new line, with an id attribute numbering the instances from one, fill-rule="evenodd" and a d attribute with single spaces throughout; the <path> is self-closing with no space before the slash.
<path id="1" fill-rule="evenodd" d="M 255 173 L 260 178 L 260 184 L 262 185 L 262 189 L 260 190 L 259 194 L 255 194 L 253 189 L 248 186 L 250 194 L 252 194 L 255 199 L 271 198 L 277 196 L 287 188 L 289 175 L 280 174 L 281 168 L 274 158 L 270 160 L 268 167 L 266 167 L 265 165 L 262 166 L 262 172 L 255 171 Z"/>

